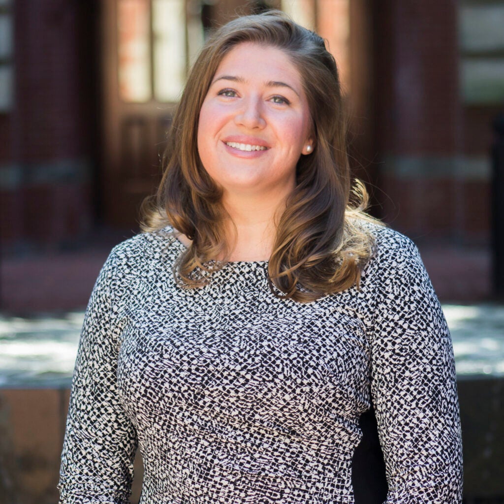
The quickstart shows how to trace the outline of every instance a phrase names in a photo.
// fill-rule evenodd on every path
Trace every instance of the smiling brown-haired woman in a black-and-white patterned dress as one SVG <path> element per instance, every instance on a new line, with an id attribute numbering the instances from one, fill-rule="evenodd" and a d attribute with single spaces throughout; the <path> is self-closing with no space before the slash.
<path id="1" fill-rule="evenodd" d="M 354 197 L 324 41 L 279 12 L 217 31 L 145 232 L 91 296 L 61 502 L 127 502 L 137 443 L 143 504 L 461 502 L 443 313 L 416 247 Z"/>

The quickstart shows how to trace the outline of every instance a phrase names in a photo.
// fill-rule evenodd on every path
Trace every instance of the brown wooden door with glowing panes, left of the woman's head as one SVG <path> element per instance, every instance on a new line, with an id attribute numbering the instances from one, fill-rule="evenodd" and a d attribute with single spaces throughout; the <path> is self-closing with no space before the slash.
<path id="1" fill-rule="evenodd" d="M 105 0 L 102 48 L 102 206 L 106 224 L 137 227 L 160 180 L 160 156 L 185 79 L 190 0 Z M 200 23 L 201 24 L 201 23 Z M 196 34 L 196 36 L 195 36 Z M 201 45 L 203 28 L 200 27 Z"/>

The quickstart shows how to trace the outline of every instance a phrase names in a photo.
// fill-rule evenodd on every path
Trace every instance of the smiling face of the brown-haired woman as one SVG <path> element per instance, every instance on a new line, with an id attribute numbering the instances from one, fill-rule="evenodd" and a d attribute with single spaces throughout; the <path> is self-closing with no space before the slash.
<path id="1" fill-rule="evenodd" d="M 224 197 L 285 198 L 299 157 L 312 147 L 301 76 L 289 57 L 273 46 L 235 46 L 215 73 L 198 124 L 200 158 Z"/>

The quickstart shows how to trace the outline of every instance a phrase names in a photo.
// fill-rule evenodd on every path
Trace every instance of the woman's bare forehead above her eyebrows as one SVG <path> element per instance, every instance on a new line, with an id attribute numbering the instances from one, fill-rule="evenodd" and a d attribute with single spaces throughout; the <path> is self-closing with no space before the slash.
<path id="1" fill-rule="evenodd" d="M 302 81 L 299 71 L 286 51 L 257 42 L 241 42 L 230 49 L 217 67 L 214 78 L 222 75 L 267 77 L 275 80 L 288 77 L 297 83 Z"/>

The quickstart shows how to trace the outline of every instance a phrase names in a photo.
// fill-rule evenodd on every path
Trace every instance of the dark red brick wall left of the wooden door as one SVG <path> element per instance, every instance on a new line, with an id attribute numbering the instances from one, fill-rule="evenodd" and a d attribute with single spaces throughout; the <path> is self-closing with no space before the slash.
<path id="1" fill-rule="evenodd" d="M 92 221 L 93 27 L 80 4 L 13 4 L 15 99 L 0 116 L 4 244 L 57 244 Z"/>

